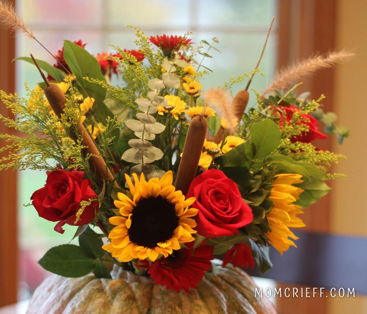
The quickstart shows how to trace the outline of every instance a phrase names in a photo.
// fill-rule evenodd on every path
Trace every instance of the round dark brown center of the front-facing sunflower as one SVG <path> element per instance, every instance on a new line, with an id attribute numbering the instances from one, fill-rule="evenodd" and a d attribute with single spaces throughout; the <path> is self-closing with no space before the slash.
<path id="1" fill-rule="evenodd" d="M 141 199 L 132 211 L 130 241 L 154 248 L 170 239 L 178 226 L 175 206 L 161 196 Z"/>

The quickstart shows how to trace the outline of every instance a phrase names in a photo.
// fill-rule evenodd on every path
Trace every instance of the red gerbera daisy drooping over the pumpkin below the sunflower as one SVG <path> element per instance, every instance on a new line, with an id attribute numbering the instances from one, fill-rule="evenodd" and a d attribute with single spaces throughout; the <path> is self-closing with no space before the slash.
<path id="1" fill-rule="evenodd" d="M 167 257 L 157 259 L 149 266 L 148 261 L 139 261 L 136 265 L 148 269 L 148 274 L 155 284 L 164 285 L 168 290 L 179 292 L 183 289 L 190 293 L 189 288 L 196 288 L 197 283 L 204 277 L 204 271 L 211 269 L 214 247 L 201 245 L 193 250 L 193 242 L 185 243 L 189 249 L 173 251 Z"/>

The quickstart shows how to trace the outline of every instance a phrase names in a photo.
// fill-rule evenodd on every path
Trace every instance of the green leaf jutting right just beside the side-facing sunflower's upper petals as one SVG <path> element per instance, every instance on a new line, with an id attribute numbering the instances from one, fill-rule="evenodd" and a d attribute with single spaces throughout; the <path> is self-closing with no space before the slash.
<path id="1" fill-rule="evenodd" d="M 310 181 L 295 184 L 304 191 L 299 195 L 296 204 L 302 208 L 306 208 L 317 202 L 321 197 L 330 192 L 330 186 L 327 186 L 320 178 L 312 177 Z"/>

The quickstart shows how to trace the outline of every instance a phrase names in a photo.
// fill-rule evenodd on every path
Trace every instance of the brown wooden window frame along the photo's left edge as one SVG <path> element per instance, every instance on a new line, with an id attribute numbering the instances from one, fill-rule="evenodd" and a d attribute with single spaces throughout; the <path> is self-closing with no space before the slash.
<path id="1" fill-rule="evenodd" d="M 15 0 L 9 1 L 15 4 Z M 14 33 L 0 29 L 0 89 L 7 93 L 15 92 L 15 58 Z M 0 114 L 11 117 L 12 114 L 0 103 Z M 0 133 L 12 133 L 0 123 Z M 0 147 L 4 141 L 0 141 Z M 2 155 L 0 155 L 1 157 Z M 0 307 L 17 302 L 18 292 L 18 224 L 17 224 L 17 172 L 12 170 L 0 172 Z"/>

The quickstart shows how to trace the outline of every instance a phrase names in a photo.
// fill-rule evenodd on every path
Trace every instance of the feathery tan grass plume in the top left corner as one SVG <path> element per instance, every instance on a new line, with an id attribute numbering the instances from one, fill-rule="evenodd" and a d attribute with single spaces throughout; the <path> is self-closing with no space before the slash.
<path id="1" fill-rule="evenodd" d="M 36 39 L 32 30 L 24 25 L 23 20 L 19 18 L 15 12 L 15 8 L 7 0 L 0 0 L 0 25 L 13 30 L 14 32 L 21 30 L 29 37 Z"/>

